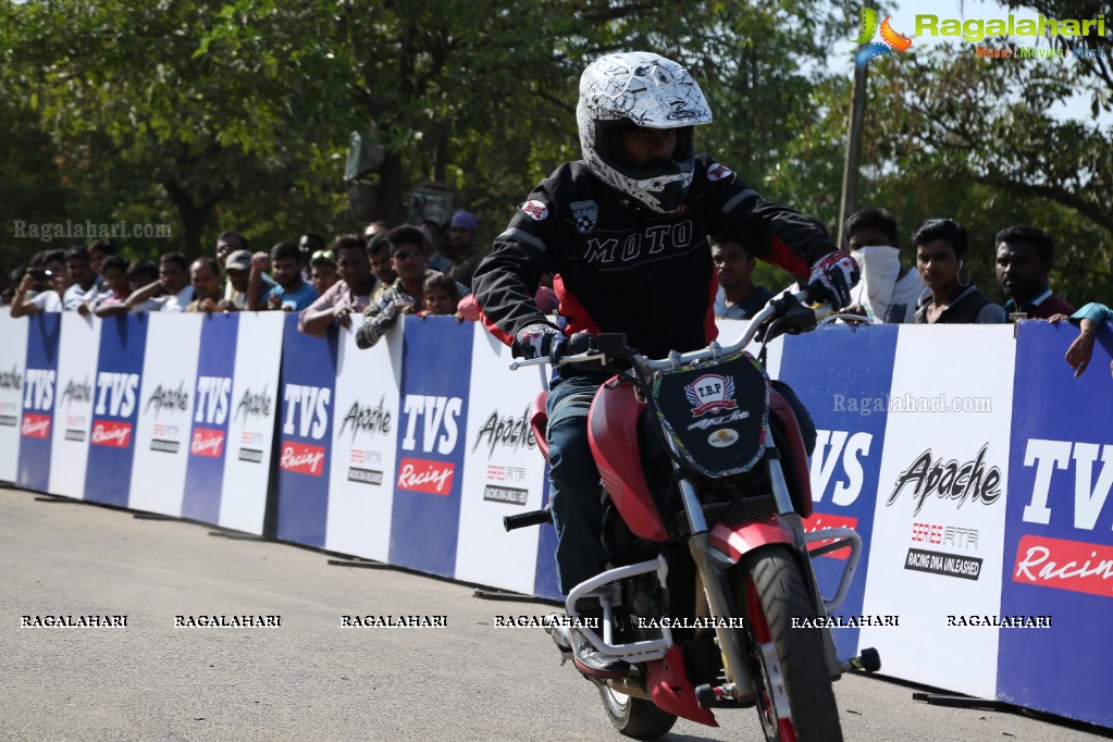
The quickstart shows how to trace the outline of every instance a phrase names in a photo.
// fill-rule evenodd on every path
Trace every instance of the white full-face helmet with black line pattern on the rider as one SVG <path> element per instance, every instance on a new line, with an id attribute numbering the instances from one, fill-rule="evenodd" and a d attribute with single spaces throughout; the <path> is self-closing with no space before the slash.
<path id="1" fill-rule="evenodd" d="M 711 122 L 703 91 L 683 67 L 660 55 L 629 51 L 600 57 L 583 70 L 575 107 L 580 148 L 603 182 L 653 211 L 676 211 L 692 181 L 692 129 Z M 622 149 L 630 126 L 677 129 L 672 159 L 636 168 Z"/>

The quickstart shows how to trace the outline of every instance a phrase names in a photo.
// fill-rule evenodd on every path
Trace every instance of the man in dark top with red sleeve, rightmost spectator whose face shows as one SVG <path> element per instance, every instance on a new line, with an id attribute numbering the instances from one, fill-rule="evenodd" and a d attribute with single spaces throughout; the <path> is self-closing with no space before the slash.
<path id="1" fill-rule="evenodd" d="M 1005 313 L 1017 319 L 1050 319 L 1068 315 L 1074 307 L 1051 293 L 1055 243 L 1035 227 L 1017 225 L 997 233 L 997 283 L 1008 297 Z"/>

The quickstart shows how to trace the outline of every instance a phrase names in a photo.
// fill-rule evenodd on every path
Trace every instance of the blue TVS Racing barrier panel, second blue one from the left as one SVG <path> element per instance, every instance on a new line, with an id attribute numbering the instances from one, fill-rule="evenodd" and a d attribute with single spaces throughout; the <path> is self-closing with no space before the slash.
<path id="1" fill-rule="evenodd" d="M 101 323 L 85 498 L 126 507 L 149 317 L 126 315 Z"/>

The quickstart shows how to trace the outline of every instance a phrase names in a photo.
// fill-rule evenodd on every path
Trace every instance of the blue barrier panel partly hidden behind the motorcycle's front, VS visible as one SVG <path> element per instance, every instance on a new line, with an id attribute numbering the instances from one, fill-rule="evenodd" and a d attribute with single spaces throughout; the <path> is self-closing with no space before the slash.
<path id="1" fill-rule="evenodd" d="M 897 329 L 827 327 L 786 337 L 781 355 L 780 378 L 796 390 L 818 431 L 810 467 L 815 514 L 806 527 L 849 526 L 861 535 L 858 573 L 838 611 L 844 616 L 863 612 Z M 835 595 L 848 553 L 840 550 L 814 562 L 828 597 Z M 834 634 L 841 654 L 857 653 L 858 629 Z"/>

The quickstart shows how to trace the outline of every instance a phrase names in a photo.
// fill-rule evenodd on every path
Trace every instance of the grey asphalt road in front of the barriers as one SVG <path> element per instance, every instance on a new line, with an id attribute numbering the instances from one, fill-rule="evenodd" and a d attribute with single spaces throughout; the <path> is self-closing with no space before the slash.
<path id="1" fill-rule="evenodd" d="M 548 605 L 484 601 L 467 585 L 211 533 L 0 489 L 0 740 L 624 739 L 541 630 L 493 625 Z M 21 625 L 59 615 L 127 625 Z M 179 615 L 280 616 L 280 625 L 176 627 Z M 345 627 L 344 615 L 446 625 Z M 914 690 L 844 677 L 846 739 L 1113 739 L 928 705 Z M 669 739 L 761 739 L 752 710 L 719 721 L 680 721 Z"/>

